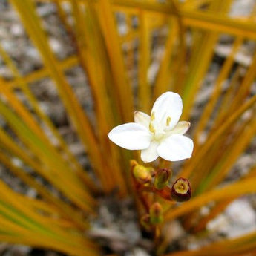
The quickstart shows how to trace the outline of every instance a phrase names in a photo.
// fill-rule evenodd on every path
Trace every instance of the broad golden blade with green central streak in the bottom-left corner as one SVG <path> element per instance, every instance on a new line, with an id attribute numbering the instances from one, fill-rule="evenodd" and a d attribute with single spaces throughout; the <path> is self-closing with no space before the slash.
<path id="1" fill-rule="evenodd" d="M 15 238 L 18 234 L 18 237 L 22 236 L 25 240 L 21 238 L 20 242 L 27 243 L 26 238 L 29 237 L 31 243 L 37 241 L 39 246 L 50 245 L 54 241 L 55 249 L 62 246 L 61 251 L 70 252 L 72 248 L 75 255 L 76 252 L 82 252 L 86 247 L 95 252 L 96 246 L 87 238 L 79 236 L 72 229 L 62 229 L 62 225 L 52 225 L 49 217 L 42 216 L 38 211 L 33 211 L 32 203 L 36 200 L 27 203 L 29 200 L 27 197 L 14 193 L 4 183 L 0 183 L 0 188 L 4 196 L 0 201 L 0 223 L 1 227 L 8 227 L 9 234 L 13 233 L 10 238 Z M 36 203 L 36 208 L 38 206 Z M 41 237 L 42 242 L 40 242 L 39 237 Z"/>

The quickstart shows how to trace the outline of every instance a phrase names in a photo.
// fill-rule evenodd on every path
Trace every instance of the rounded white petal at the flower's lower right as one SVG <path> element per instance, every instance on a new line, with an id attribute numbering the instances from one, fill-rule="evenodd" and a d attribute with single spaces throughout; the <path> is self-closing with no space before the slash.
<path id="1" fill-rule="evenodd" d="M 160 143 L 157 153 L 165 160 L 179 161 L 190 158 L 193 147 L 193 140 L 180 134 L 174 134 Z"/>

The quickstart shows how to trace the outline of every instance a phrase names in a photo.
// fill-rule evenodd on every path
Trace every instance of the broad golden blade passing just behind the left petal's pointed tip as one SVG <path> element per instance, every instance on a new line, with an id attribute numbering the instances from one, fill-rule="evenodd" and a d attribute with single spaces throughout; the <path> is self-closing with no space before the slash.
<path id="1" fill-rule="evenodd" d="M 102 151 L 109 152 L 109 157 L 104 160 L 105 170 L 102 171 L 100 178 L 101 180 L 108 180 L 108 191 L 119 186 L 120 194 L 126 194 L 125 182 L 120 172 L 122 168 L 119 165 L 119 156 L 111 142 L 105 140 L 108 132 L 114 127 L 114 116 L 119 119 L 120 114 L 115 111 L 116 107 L 114 108 L 116 102 L 114 102 L 114 96 L 111 93 L 113 90 L 110 89 L 113 79 L 110 76 L 111 70 L 108 68 L 109 63 L 105 45 L 102 45 L 103 38 L 100 27 L 96 22 L 96 13 L 91 4 L 79 5 L 77 1 L 73 0 L 72 7 L 76 21 L 76 38 L 79 39 L 79 56 L 84 69 L 88 72 L 96 105 L 99 142 Z M 84 45 L 87 47 L 84 47 Z M 116 94 L 114 93 L 114 95 Z M 115 164 L 113 165 L 113 163 Z"/>

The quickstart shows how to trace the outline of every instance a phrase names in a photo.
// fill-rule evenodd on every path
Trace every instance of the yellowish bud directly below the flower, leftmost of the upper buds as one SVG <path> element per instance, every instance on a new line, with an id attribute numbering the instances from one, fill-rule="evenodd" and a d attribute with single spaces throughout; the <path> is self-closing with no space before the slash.
<path id="1" fill-rule="evenodd" d="M 136 161 L 131 161 L 131 171 L 135 180 L 140 184 L 148 184 L 151 182 L 153 168 L 148 168 L 143 165 L 139 165 Z"/>

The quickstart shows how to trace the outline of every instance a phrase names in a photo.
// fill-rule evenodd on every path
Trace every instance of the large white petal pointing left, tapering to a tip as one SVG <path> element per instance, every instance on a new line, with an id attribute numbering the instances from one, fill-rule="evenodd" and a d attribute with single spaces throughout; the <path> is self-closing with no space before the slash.
<path id="1" fill-rule="evenodd" d="M 135 122 L 116 126 L 110 131 L 108 138 L 116 145 L 129 150 L 148 148 L 151 141 L 148 129 Z"/>

